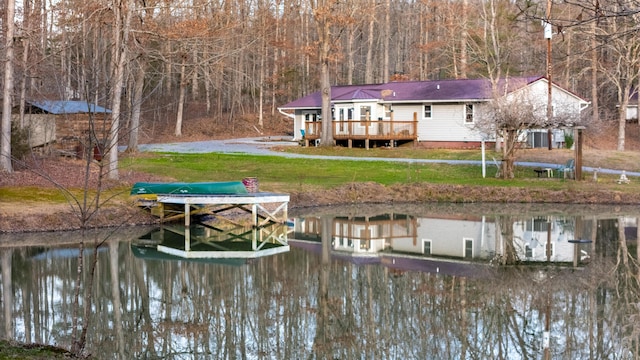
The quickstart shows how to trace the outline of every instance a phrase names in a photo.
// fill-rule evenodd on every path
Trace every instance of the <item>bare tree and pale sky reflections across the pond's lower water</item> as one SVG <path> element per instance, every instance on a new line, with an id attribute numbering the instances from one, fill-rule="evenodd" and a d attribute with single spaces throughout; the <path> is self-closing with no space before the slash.
<path id="1" fill-rule="evenodd" d="M 539 359 L 548 320 L 551 359 L 633 358 L 638 249 L 618 219 L 589 221 L 576 227 L 598 239 L 588 266 L 494 267 L 477 278 L 332 259 L 330 239 L 319 254 L 292 248 L 245 266 L 142 261 L 128 244 L 117 252 L 110 244 L 96 269 L 90 350 L 120 358 Z M 33 341 L 69 341 L 65 304 L 77 260 L 27 255 L 13 253 L 21 271 L 13 302 L 3 287 L 15 319 L 5 309 L 5 328 L 26 322 L 17 333 Z"/>

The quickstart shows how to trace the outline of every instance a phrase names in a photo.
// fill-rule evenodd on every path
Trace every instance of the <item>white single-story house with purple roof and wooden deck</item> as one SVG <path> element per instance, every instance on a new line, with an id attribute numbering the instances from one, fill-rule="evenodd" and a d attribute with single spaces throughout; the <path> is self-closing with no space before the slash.
<path id="1" fill-rule="evenodd" d="M 499 82 L 503 96 L 526 95 L 546 114 L 548 81 L 545 77 L 514 77 Z M 474 148 L 483 140 L 496 141 L 478 131 L 476 119 L 493 100 L 488 79 L 404 81 L 384 84 L 331 87 L 333 137 L 337 144 L 368 147 L 394 146 L 407 142 L 424 147 Z M 553 113 L 577 122 L 589 102 L 552 84 Z M 292 101 L 278 110 L 293 119 L 294 140 L 313 144 L 320 138 L 321 93 Z M 544 134 L 544 136 L 542 135 Z M 555 145 L 564 132 L 554 134 Z M 531 147 L 547 147 L 547 130 L 529 130 Z"/>

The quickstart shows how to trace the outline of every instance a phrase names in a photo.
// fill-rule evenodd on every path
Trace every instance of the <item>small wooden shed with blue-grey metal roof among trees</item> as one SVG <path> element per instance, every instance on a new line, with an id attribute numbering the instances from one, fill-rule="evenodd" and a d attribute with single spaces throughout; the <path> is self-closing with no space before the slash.
<path id="1" fill-rule="evenodd" d="M 106 139 L 110 114 L 111 110 L 86 101 L 28 101 L 24 119 L 29 129 L 29 145 L 32 148 L 51 146 L 79 155 L 78 149 L 88 143 L 91 131 L 94 141 Z"/>

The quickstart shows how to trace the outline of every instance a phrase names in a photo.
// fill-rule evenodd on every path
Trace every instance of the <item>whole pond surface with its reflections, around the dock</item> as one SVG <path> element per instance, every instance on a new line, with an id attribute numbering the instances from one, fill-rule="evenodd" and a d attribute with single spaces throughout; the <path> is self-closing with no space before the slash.
<path id="1" fill-rule="evenodd" d="M 394 205 L 1 235 L 0 337 L 99 359 L 635 359 L 637 207 Z M 89 285 L 94 244 L 95 281 Z M 202 255 L 204 254 L 204 256 Z"/>

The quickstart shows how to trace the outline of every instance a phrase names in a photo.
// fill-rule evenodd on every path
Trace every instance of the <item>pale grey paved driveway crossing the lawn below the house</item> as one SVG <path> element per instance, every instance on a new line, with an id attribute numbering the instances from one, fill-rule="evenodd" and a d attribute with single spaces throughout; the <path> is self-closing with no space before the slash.
<path id="1" fill-rule="evenodd" d="M 275 146 L 298 146 L 298 142 L 293 141 L 291 138 L 286 137 L 255 137 L 255 138 L 242 138 L 242 139 L 228 139 L 228 140 L 207 140 L 207 141 L 194 141 L 194 142 L 175 142 L 166 144 L 142 144 L 139 146 L 140 151 L 148 152 L 175 152 L 175 153 L 191 153 L 191 154 L 203 154 L 203 153 L 239 153 L 239 154 L 251 154 L 251 155 L 272 155 L 282 156 L 286 158 L 296 159 L 324 159 L 324 160 L 355 160 L 355 161 L 387 161 L 387 162 L 401 162 L 409 164 L 423 164 L 423 163 L 445 163 L 445 164 L 460 164 L 460 165 L 482 165 L 482 161 L 478 160 L 437 160 L 437 159 L 408 159 L 408 158 L 379 158 L 379 157 L 354 157 L 354 156 L 326 156 L 326 155 L 306 155 L 306 154 L 294 154 L 282 151 L 275 151 L 272 148 Z M 121 149 L 124 150 L 124 149 Z M 517 166 L 525 166 L 532 168 L 553 168 L 560 167 L 559 164 L 543 163 L 543 162 L 527 162 L 517 161 Z M 487 168 L 495 166 L 492 159 L 487 159 L 485 162 Z M 588 166 L 583 166 L 583 172 L 593 173 L 598 170 L 602 174 L 622 174 L 622 170 L 616 169 L 595 169 Z M 640 172 L 625 172 L 627 176 L 640 177 Z"/>

